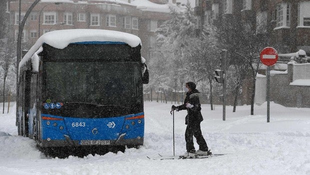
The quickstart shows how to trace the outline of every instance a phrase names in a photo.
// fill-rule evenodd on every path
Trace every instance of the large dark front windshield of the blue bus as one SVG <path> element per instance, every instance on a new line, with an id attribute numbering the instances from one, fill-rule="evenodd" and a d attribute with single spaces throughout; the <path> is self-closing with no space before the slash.
<path id="1" fill-rule="evenodd" d="M 121 115 L 142 100 L 138 62 L 44 62 L 43 70 L 43 100 L 72 109 L 112 106 L 123 109 L 109 115 Z"/>

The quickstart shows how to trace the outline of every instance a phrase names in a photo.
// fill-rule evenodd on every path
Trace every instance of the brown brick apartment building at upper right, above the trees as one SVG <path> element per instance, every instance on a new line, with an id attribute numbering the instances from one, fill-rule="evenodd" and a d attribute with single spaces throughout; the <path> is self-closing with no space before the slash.
<path id="1" fill-rule="evenodd" d="M 232 17 L 253 23 L 257 32 L 269 34 L 278 53 L 302 49 L 310 56 L 309 0 L 196 0 L 195 14 L 203 23 L 224 25 Z"/>

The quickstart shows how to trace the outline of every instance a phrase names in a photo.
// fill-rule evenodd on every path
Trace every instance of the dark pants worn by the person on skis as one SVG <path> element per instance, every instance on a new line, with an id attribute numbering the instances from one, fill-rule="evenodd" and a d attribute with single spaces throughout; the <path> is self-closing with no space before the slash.
<path id="1" fill-rule="evenodd" d="M 186 131 L 185 131 L 185 141 L 186 141 L 187 152 L 190 150 L 195 150 L 192 136 L 195 136 L 200 150 L 202 151 L 208 150 L 206 142 L 201 134 L 200 122 L 191 122 L 187 124 Z"/>

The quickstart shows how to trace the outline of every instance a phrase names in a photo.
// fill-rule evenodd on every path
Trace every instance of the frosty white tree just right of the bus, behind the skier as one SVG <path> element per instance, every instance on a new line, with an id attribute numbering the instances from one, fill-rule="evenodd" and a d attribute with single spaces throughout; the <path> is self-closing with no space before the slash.
<path id="1" fill-rule="evenodd" d="M 183 11 L 171 9 L 171 19 L 156 30 L 155 58 L 149 64 L 153 86 L 175 89 L 175 84 L 182 87 L 191 78 L 185 51 L 195 38 L 195 18 L 189 6 Z"/>

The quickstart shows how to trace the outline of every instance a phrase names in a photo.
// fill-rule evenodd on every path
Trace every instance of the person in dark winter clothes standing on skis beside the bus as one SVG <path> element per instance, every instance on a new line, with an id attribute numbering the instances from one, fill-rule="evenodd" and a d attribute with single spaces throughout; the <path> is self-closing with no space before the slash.
<path id="1" fill-rule="evenodd" d="M 201 134 L 200 122 L 203 120 L 201 115 L 201 107 L 199 102 L 200 92 L 196 89 L 194 82 L 187 82 L 185 84 L 186 97 L 184 104 L 179 106 L 172 105 L 171 110 L 187 110 L 185 117 L 185 124 L 187 125 L 185 131 L 186 153 L 184 156 L 194 157 L 195 155 L 210 155 L 206 142 Z M 193 137 L 195 136 L 199 149 L 195 151 L 193 144 Z"/>

